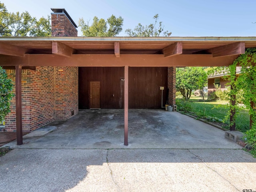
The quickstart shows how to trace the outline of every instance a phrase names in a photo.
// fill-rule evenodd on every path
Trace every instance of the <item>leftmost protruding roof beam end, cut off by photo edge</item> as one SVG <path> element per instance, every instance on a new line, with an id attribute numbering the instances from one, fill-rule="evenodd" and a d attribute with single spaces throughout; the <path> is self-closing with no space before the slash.
<path id="1" fill-rule="evenodd" d="M 0 42 L 0 54 L 24 57 L 28 49 Z"/>

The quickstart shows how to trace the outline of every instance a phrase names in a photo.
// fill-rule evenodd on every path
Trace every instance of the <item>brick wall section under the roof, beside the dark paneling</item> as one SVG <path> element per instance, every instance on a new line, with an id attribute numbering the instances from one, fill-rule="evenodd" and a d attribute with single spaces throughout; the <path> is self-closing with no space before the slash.
<path id="1" fill-rule="evenodd" d="M 78 67 L 56 67 L 56 120 L 78 113 Z"/>

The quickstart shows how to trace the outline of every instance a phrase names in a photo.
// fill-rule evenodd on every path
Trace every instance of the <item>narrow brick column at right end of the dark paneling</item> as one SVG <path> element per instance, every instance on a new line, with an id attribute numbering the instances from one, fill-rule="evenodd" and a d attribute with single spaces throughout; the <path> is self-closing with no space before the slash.
<path id="1" fill-rule="evenodd" d="M 168 67 L 168 104 L 176 104 L 176 67 Z"/>

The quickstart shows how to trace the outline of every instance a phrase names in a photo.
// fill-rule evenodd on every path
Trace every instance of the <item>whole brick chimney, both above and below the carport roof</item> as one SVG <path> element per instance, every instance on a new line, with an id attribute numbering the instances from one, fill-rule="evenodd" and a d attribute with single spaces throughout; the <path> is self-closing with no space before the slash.
<path id="1" fill-rule="evenodd" d="M 65 9 L 52 8 L 52 36 L 77 37 L 77 26 Z M 78 67 L 55 67 L 56 120 L 78 113 Z"/>

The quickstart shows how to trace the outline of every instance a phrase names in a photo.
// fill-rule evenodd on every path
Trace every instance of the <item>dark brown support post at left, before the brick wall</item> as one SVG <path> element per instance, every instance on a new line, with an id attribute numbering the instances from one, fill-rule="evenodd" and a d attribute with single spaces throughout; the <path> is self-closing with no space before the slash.
<path id="1" fill-rule="evenodd" d="M 21 105 L 21 72 L 22 66 L 15 66 L 15 99 L 16 99 L 16 136 L 17 145 L 22 145 L 22 105 Z"/>

